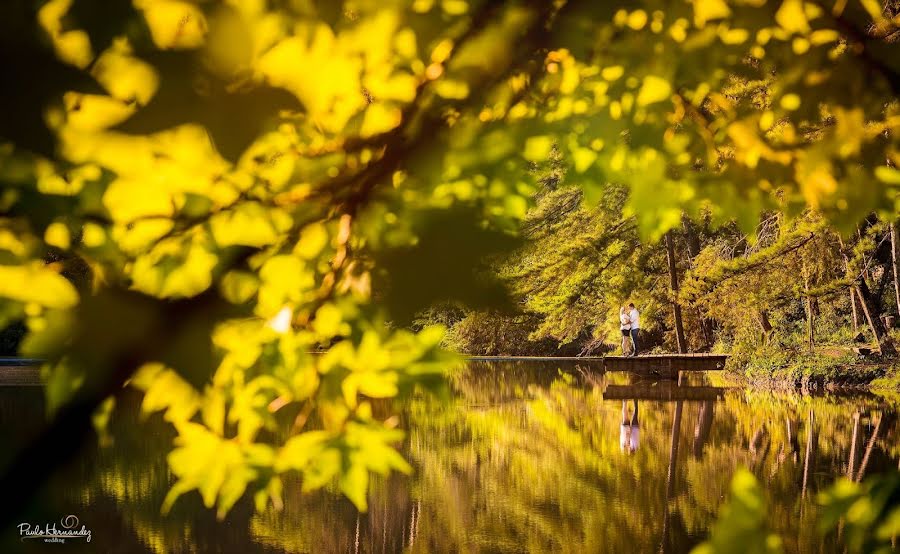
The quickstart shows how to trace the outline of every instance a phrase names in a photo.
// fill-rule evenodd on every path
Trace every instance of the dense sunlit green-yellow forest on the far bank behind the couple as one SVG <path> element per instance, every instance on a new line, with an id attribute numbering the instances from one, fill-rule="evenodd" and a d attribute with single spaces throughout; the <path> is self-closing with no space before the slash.
<path id="1" fill-rule="evenodd" d="M 850 366 L 895 352 L 895 222 L 873 214 L 847 234 L 814 211 L 772 211 L 745 232 L 683 214 L 650 242 L 627 208 L 627 187 L 610 186 L 587 205 L 558 171 L 540 182 L 523 244 L 479 270 L 506 285 L 510 302 L 489 310 L 446 303 L 418 320 L 447 325 L 451 347 L 601 355 L 619 348 L 618 311 L 634 302 L 648 349 L 726 352 L 739 371 L 791 368 L 821 380 L 844 369 L 850 381 L 871 379 L 880 371 Z"/>

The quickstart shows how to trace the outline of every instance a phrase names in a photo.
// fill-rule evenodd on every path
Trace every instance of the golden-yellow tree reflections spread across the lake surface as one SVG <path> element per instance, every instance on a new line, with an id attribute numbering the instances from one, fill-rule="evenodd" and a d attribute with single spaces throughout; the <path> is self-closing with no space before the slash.
<path id="1" fill-rule="evenodd" d="M 242 544 L 345 552 L 682 551 L 705 535 L 733 471 L 751 464 L 776 500 L 770 525 L 788 551 L 819 544 L 815 493 L 830 484 L 841 459 L 846 464 L 846 404 L 775 394 L 729 394 L 718 405 L 641 401 L 643 444 L 622 455 L 621 403 L 604 401 L 600 383 L 582 383 L 556 364 L 479 364 L 455 381 L 450 404 L 410 404 L 403 424 L 411 430 L 406 449 L 416 472 L 376 482 L 367 514 L 328 493 L 301 495 L 299 484 L 288 483 L 284 511 L 253 518 Z M 851 409 L 874 405 L 863 400 Z M 809 436 L 810 417 L 819 440 Z M 765 444 L 754 457 L 749 445 L 757 434 Z M 806 441 L 802 465 L 773 454 L 792 452 L 799 437 Z M 680 460 L 685 441 L 692 455 Z M 873 446 L 872 468 L 883 464 L 879 453 Z M 147 515 L 159 527 L 155 508 Z"/>

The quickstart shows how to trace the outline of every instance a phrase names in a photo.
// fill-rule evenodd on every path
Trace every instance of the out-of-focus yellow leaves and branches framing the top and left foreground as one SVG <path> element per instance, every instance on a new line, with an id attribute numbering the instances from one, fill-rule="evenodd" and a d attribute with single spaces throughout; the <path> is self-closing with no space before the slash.
<path id="1" fill-rule="evenodd" d="M 0 326 L 50 360 L 51 409 L 130 379 L 165 413 L 166 508 L 279 506 L 289 472 L 365 508 L 409 469 L 371 401 L 452 360 L 390 323 L 497 298 L 470 270 L 514 244 L 536 166 L 588 204 L 528 254 L 560 271 L 523 274 L 535 338 L 565 341 L 612 311 L 574 291 L 645 286 L 596 264 L 651 263 L 634 239 L 683 213 L 895 213 L 897 26 L 869 1 L 4 2 Z"/>

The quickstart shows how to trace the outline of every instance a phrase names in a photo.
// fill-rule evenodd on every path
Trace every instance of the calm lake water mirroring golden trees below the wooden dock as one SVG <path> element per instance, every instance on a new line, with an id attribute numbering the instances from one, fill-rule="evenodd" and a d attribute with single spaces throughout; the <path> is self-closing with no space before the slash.
<path id="1" fill-rule="evenodd" d="M 173 433 L 121 405 L 111 445 L 86 445 L 22 502 L 21 521 L 74 514 L 91 543 L 20 542 L 11 525 L 0 551 L 686 552 L 743 466 L 763 483 L 788 552 L 836 552 L 837 537 L 816 531 L 816 494 L 900 459 L 894 408 L 870 394 L 754 392 L 702 377 L 676 386 L 544 362 L 472 362 L 452 388 L 450 401 L 401 408 L 415 472 L 376 481 L 368 513 L 289 482 L 281 512 L 241 502 L 224 522 L 197 493 L 160 515 Z M 40 388 L 0 387 L 0 461 L 43 413 Z"/>

